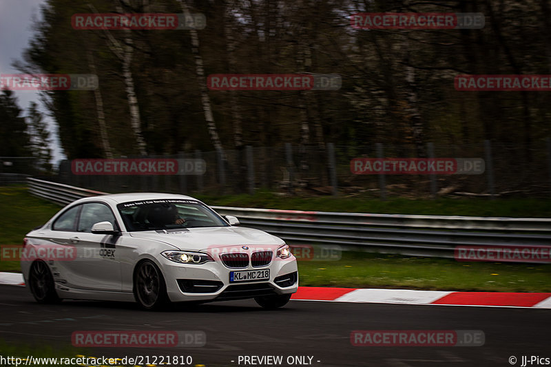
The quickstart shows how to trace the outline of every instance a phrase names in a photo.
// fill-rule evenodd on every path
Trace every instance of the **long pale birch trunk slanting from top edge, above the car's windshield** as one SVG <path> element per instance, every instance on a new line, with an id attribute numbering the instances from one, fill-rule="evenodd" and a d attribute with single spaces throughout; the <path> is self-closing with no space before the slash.
<path id="1" fill-rule="evenodd" d="M 189 8 L 185 0 L 177 0 L 182 7 L 184 12 L 184 17 L 186 19 L 191 18 Z M 222 151 L 222 158 L 226 160 L 226 155 L 222 149 L 222 143 L 220 143 L 220 137 L 218 136 L 218 129 L 216 129 L 216 124 L 214 123 L 214 116 L 212 115 L 211 101 L 209 98 L 209 91 L 207 90 L 207 80 L 205 79 L 205 70 L 203 70 L 202 57 L 199 53 L 199 36 L 197 30 L 189 30 L 191 34 L 191 53 L 194 54 L 195 58 L 195 67 L 197 80 L 199 83 L 199 92 L 201 94 L 201 103 L 202 109 L 205 113 L 205 120 L 207 121 L 207 128 L 209 129 L 209 135 L 211 137 L 212 145 L 215 149 L 220 149 Z"/>

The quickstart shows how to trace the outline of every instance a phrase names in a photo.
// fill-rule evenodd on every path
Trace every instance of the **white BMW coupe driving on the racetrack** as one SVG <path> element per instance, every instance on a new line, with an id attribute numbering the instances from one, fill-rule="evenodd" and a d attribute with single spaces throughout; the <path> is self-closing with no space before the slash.
<path id="1" fill-rule="evenodd" d="M 21 269 L 38 302 L 169 302 L 254 298 L 264 308 L 298 289 L 289 246 L 236 227 L 199 200 L 165 193 L 83 198 L 23 240 Z"/>

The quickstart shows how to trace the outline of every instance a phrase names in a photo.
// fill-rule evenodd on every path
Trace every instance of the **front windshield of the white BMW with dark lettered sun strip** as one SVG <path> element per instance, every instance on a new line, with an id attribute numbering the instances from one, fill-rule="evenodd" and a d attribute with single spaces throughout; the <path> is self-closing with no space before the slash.
<path id="1" fill-rule="evenodd" d="M 119 204 L 117 208 L 129 232 L 229 226 L 195 200 L 139 200 Z"/>

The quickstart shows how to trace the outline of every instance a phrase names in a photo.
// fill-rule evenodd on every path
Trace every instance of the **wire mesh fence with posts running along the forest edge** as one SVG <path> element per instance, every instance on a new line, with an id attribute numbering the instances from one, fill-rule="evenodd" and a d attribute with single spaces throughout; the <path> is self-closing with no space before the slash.
<path id="1" fill-rule="evenodd" d="M 202 160 L 202 174 L 75 173 L 64 160 L 59 174 L 46 179 L 98 191 L 172 193 L 254 193 L 269 189 L 295 195 L 428 198 L 444 195 L 481 197 L 551 196 L 551 143 L 530 147 L 490 143 L 438 145 L 291 145 L 240 150 L 194 151 L 171 156 L 123 157 L 118 160 Z M 418 154 L 424 151 L 424 154 Z M 479 174 L 357 174 L 355 158 L 478 158 Z M 177 164 L 176 164 L 177 165 Z"/>

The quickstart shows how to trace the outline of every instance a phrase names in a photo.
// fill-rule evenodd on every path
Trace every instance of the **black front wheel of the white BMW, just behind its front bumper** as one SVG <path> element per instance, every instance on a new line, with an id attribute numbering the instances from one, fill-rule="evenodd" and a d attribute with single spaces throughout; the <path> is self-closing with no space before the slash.
<path id="1" fill-rule="evenodd" d="M 170 303 L 165 277 L 151 260 L 145 260 L 136 266 L 134 298 L 146 310 L 164 308 Z"/>

